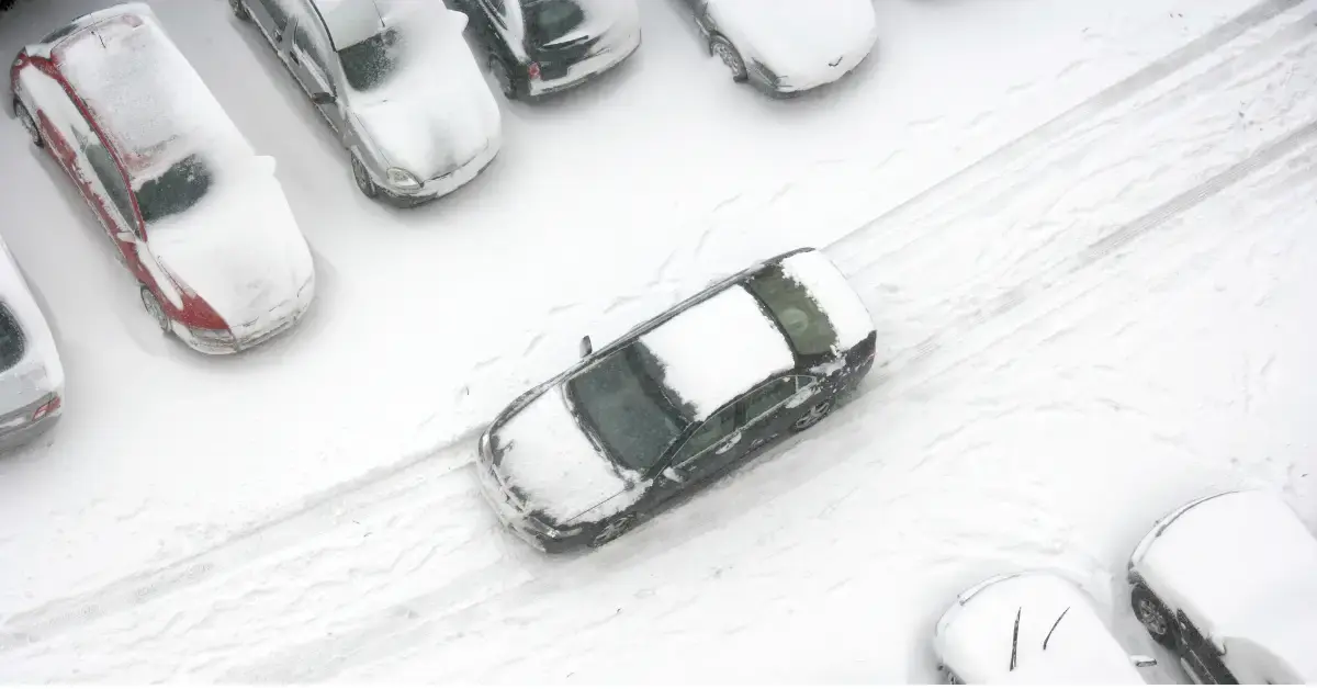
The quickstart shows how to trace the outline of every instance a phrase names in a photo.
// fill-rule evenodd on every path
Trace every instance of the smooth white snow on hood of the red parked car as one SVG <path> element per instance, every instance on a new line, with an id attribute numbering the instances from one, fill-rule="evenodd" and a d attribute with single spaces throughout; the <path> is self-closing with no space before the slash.
<path id="1" fill-rule="evenodd" d="M 230 327 L 296 299 L 313 274 L 273 161 L 253 158 L 191 209 L 148 225 L 151 254 Z"/>

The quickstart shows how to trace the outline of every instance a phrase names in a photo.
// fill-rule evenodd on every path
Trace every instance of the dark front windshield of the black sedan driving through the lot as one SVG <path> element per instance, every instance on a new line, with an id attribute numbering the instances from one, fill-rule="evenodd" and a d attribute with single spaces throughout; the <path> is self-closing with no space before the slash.
<path id="1" fill-rule="evenodd" d="M 694 418 L 662 383 L 662 366 L 639 341 L 568 381 L 566 391 L 608 455 L 637 472 L 652 469 Z"/>

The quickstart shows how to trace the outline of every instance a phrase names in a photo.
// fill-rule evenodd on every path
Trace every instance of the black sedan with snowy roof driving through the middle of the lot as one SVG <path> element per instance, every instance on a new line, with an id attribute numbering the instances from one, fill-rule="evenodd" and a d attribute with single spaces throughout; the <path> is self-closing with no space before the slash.
<path id="1" fill-rule="evenodd" d="M 797 249 L 719 281 L 523 394 L 479 440 L 482 489 L 532 545 L 602 545 L 805 431 L 873 365 L 846 277 Z"/>

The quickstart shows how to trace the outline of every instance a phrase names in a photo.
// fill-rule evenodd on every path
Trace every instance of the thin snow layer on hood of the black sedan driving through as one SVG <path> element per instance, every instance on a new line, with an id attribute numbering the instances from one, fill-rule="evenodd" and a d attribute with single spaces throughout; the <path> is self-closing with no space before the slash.
<path id="1" fill-rule="evenodd" d="M 553 386 L 494 432 L 498 473 L 537 510 L 568 522 L 627 490 L 627 480 L 586 437 Z"/>

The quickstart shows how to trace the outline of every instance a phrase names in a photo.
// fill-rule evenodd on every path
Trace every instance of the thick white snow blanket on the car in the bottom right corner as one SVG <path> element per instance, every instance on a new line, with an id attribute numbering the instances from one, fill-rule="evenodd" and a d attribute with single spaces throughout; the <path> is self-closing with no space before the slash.
<path id="1" fill-rule="evenodd" d="M 1160 532 L 1158 532 L 1160 531 Z M 1256 644 L 1317 680 L 1317 539 L 1279 495 L 1225 493 L 1163 520 L 1135 553 L 1154 593 L 1230 653 Z"/>

